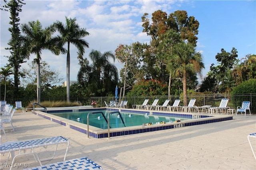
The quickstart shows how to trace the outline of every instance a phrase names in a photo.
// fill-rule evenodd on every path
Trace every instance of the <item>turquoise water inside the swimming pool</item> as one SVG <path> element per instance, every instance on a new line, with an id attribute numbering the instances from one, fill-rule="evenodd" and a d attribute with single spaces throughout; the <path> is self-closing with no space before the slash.
<path id="1" fill-rule="evenodd" d="M 51 113 L 52 115 L 56 115 L 59 117 L 63 117 L 65 119 L 69 119 L 72 121 L 77 121 L 80 123 L 84 123 L 87 125 L 87 115 L 88 113 L 92 113 L 91 111 L 83 111 L 83 112 L 65 112 L 65 113 Z M 105 115 L 106 119 L 108 119 L 108 111 L 102 111 Z M 118 113 L 113 113 L 109 115 L 110 128 L 117 127 L 130 127 L 137 126 L 143 124 L 160 124 L 164 122 L 174 122 L 176 120 L 187 120 L 190 119 L 188 117 L 168 117 L 168 116 L 160 116 L 160 115 L 148 115 L 148 114 L 136 114 L 136 113 L 127 113 L 120 112 L 124 123 L 122 122 L 121 117 Z M 192 119 L 192 118 L 191 118 Z M 107 121 L 104 119 L 101 113 L 94 113 L 89 115 L 89 125 L 98 127 L 101 129 L 108 129 Z"/>

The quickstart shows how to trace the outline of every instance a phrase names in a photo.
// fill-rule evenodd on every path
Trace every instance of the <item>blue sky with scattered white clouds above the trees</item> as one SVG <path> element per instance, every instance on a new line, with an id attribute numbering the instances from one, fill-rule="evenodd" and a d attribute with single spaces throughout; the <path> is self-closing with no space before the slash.
<path id="1" fill-rule="evenodd" d="M 84 57 L 88 57 L 92 49 L 101 53 L 112 51 L 120 44 L 130 45 L 134 42 L 148 43 L 150 37 L 142 32 L 141 17 L 148 13 L 162 10 L 168 15 L 176 10 L 185 10 L 188 16 L 199 21 L 196 50 L 202 54 L 204 67 L 203 77 L 210 70 L 211 64 L 217 64 L 215 56 L 221 49 L 230 52 L 238 51 L 238 59 L 248 54 L 256 54 L 256 1 L 255 0 L 24 0 L 20 12 L 20 23 L 39 20 L 43 27 L 55 21 L 65 23 L 65 16 L 76 18 L 77 23 L 90 33 L 84 39 L 89 43 Z M 4 1 L 0 0 L 1 6 Z M 10 13 L 0 11 L 0 67 L 6 66 L 10 55 L 5 48 L 11 38 L 8 28 L 11 26 Z M 64 46 L 67 48 L 67 44 Z M 70 80 L 76 80 L 80 68 L 77 49 L 70 47 Z M 28 63 L 36 58 L 30 55 L 22 68 L 28 69 Z M 44 50 L 42 61 L 58 72 L 66 81 L 66 55 L 55 56 Z M 91 61 L 90 61 L 91 62 Z M 113 62 L 122 68 L 118 61 Z M 200 82 L 201 80 L 199 80 Z M 60 82 L 62 84 L 62 82 Z M 55 84 L 56 85 L 56 84 Z"/>

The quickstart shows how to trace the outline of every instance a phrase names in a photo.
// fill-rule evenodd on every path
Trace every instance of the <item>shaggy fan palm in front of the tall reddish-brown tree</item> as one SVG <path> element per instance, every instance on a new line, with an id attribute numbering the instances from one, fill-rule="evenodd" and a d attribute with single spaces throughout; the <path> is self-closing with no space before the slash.
<path id="1" fill-rule="evenodd" d="M 195 50 L 195 47 L 184 41 L 174 45 L 173 61 L 175 63 L 175 75 L 182 77 L 184 106 L 187 105 L 187 81 L 188 72 L 198 73 L 201 76 L 201 70 L 204 68 L 202 55 Z"/>

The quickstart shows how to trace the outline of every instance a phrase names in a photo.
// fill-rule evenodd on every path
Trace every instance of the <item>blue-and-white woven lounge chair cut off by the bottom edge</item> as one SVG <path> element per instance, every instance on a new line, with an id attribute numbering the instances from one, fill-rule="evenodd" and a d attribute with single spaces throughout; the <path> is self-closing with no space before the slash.
<path id="1" fill-rule="evenodd" d="M 62 162 L 28 168 L 25 170 L 60 170 L 60 169 L 67 169 L 67 170 L 101 169 L 102 170 L 103 168 L 97 163 L 95 163 L 94 161 L 90 160 L 89 158 L 83 157 L 83 158 L 76 158 L 72 160 L 66 160 Z"/>

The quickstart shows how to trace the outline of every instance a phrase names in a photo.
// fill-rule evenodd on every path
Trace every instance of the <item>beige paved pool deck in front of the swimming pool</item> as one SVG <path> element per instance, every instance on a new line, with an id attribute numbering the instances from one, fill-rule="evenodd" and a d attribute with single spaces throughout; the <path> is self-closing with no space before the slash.
<path id="1" fill-rule="evenodd" d="M 17 111 L 12 119 L 14 132 L 10 124 L 4 123 L 8 141 L 63 136 L 70 141 L 66 160 L 87 156 L 104 170 L 256 169 L 256 159 L 247 139 L 248 134 L 256 132 L 256 115 L 234 115 L 233 120 L 229 121 L 110 139 L 87 138 L 85 134 L 34 115 L 30 111 Z M 1 135 L 2 142 L 6 142 L 2 132 Z M 255 139 L 251 140 L 254 149 Z M 56 157 L 42 163 L 62 161 L 65 149 L 66 145 L 59 145 Z M 51 147 L 42 148 L 38 150 L 39 157 L 48 157 L 51 151 Z M 1 155 L 1 167 L 7 155 Z M 16 163 L 28 164 L 28 167 L 39 165 L 33 156 L 22 156 Z"/>

